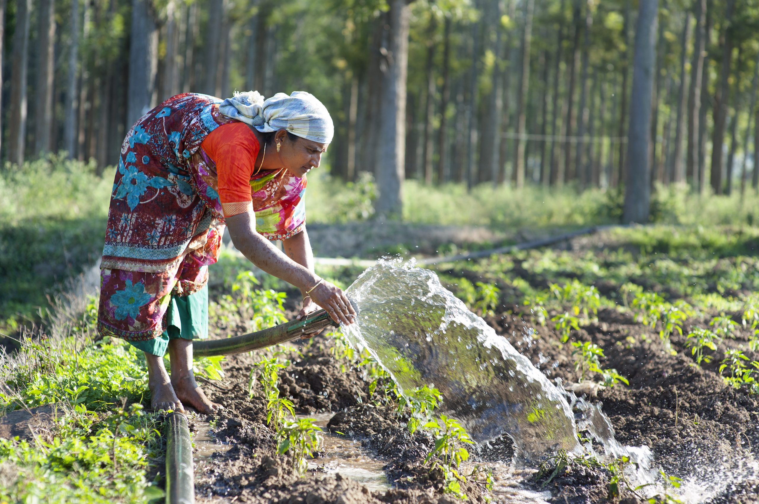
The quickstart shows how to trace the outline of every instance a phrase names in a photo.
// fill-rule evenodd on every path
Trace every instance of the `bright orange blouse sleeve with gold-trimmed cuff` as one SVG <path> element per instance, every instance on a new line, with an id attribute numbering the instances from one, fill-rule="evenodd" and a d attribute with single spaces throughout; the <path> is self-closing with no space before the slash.
<path id="1" fill-rule="evenodd" d="M 253 130 L 241 122 L 222 124 L 206 136 L 200 147 L 216 164 L 224 216 L 252 211 L 250 179 L 260 149 Z"/>

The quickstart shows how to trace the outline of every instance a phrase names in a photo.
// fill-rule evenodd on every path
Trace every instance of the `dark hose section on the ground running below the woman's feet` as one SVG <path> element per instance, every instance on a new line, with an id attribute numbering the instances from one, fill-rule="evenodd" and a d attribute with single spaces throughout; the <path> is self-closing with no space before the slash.
<path id="1" fill-rule="evenodd" d="M 166 416 L 166 504 L 194 504 L 195 477 L 192 443 L 187 417 L 173 412 Z"/>

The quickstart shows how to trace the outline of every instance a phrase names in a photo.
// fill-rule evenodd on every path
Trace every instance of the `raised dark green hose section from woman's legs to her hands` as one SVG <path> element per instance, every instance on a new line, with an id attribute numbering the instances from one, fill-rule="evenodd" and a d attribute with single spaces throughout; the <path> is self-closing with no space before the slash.
<path id="1" fill-rule="evenodd" d="M 193 345 L 193 354 L 197 357 L 209 357 L 211 355 L 231 355 L 233 353 L 248 352 L 265 348 L 266 346 L 297 340 L 304 334 L 317 333 L 326 327 L 338 324 L 332 321 L 329 314 L 324 311 L 316 311 L 302 320 L 294 320 L 258 330 L 255 333 L 247 333 L 242 336 L 224 338 L 222 340 L 201 340 Z"/>

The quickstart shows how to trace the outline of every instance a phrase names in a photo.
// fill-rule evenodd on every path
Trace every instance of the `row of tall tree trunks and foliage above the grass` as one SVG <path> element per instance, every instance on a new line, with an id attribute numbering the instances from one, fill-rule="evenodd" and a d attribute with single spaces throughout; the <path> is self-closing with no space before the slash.
<path id="1" fill-rule="evenodd" d="M 759 183 L 759 0 L 5 4 L 0 155 L 13 163 L 62 149 L 102 170 L 178 92 L 304 89 L 335 119 L 332 173 L 373 172 L 380 213 L 398 211 L 405 177 L 627 181 L 631 201 L 654 181 Z"/>

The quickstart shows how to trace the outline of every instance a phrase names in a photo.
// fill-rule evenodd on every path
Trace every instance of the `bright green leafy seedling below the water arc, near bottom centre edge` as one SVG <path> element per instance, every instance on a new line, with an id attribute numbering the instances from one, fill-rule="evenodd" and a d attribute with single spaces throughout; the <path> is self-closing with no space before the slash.
<path id="1" fill-rule="evenodd" d="M 427 464 L 434 458 L 435 462 L 430 471 L 436 468 L 442 471 L 445 477 L 443 491 L 452 493 L 459 499 L 466 499 L 466 494 L 461 490 L 461 481 L 466 481 L 466 477 L 458 473 L 458 466 L 469 459 L 469 451 L 464 446 L 458 445 L 474 444 L 474 441 L 458 421 L 446 415 L 440 415 L 428 421 L 424 424 L 424 428 L 433 430 L 436 436 L 435 447 L 424 458 L 424 463 Z"/>

